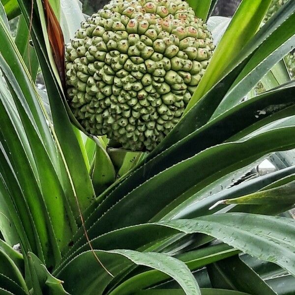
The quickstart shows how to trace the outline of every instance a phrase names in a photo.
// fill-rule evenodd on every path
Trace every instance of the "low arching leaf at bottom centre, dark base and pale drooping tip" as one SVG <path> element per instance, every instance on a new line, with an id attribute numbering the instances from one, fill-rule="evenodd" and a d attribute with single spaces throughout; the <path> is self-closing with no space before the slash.
<path id="1" fill-rule="evenodd" d="M 103 264 L 116 275 L 132 262 L 135 265 L 148 266 L 158 269 L 174 278 L 186 295 L 201 295 L 198 284 L 184 263 L 177 259 L 160 253 L 141 253 L 132 250 L 95 251 Z M 76 271 L 73 271 L 76 270 Z M 69 273 L 70 271 L 70 273 Z M 65 279 L 79 279 L 81 284 L 72 284 L 65 280 L 65 289 L 72 295 L 102 294 L 110 276 L 97 266 L 93 254 L 84 252 L 74 258 L 60 273 L 59 277 Z"/>

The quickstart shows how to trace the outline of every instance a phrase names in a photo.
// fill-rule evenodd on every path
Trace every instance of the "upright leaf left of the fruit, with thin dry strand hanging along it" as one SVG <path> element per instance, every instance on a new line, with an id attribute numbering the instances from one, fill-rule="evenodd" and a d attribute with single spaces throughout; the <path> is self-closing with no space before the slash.
<path id="1" fill-rule="evenodd" d="M 38 10 L 36 5 L 34 6 L 34 9 L 36 9 L 37 15 L 41 17 L 41 25 L 44 31 L 42 31 L 38 21 L 39 17 L 34 14 L 35 17 L 33 17 L 32 38 L 40 65 L 43 69 L 43 76 L 47 86 L 48 97 L 52 109 L 55 135 L 57 137 L 56 140 L 58 142 L 61 162 L 64 165 L 64 171 L 62 173 L 63 183 L 65 189 L 71 195 L 71 197 L 69 195 L 71 208 L 75 216 L 78 217 L 79 212 L 76 204 L 76 198 L 78 199 L 81 210 L 83 211 L 92 202 L 94 190 L 77 137 L 73 131 L 72 124 L 69 121 L 65 107 L 61 100 L 63 94 L 59 87 L 59 83 L 56 80 L 58 77 L 56 76 L 57 71 L 54 71 L 53 67 L 54 62 L 52 61 L 52 55 L 50 53 L 51 51 L 46 32 L 43 7 L 40 1 L 38 3 L 40 10 Z M 19 0 L 19 4 L 28 24 L 30 21 L 30 7 L 28 3 L 23 0 Z M 44 36 L 47 40 L 46 43 L 44 41 Z M 51 57 L 51 59 L 49 57 Z M 75 161 L 73 161 L 73 159 L 75 159 Z"/>

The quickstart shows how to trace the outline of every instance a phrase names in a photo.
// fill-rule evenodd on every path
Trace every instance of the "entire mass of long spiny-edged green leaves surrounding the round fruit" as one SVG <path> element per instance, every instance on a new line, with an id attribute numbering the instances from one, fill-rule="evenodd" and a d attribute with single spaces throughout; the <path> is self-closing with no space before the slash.
<path id="1" fill-rule="evenodd" d="M 294 207 L 295 166 L 283 162 L 295 148 L 295 84 L 282 75 L 284 84 L 241 101 L 292 50 L 295 2 L 263 27 L 271 1 L 241 2 L 185 115 L 148 155 L 84 141 L 43 2 L 32 19 L 31 2 L 15 2 L 4 1 L 8 16 L 22 12 L 15 40 L 0 6 L 0 293 L 294 293 L 295 221 L 283 212 Z M 197 2 L 206 19 L 216 1 Z M 30 74 L 38 64 L 47 93 Z M 277 151 L 283 169 L 236 184 Z"/>

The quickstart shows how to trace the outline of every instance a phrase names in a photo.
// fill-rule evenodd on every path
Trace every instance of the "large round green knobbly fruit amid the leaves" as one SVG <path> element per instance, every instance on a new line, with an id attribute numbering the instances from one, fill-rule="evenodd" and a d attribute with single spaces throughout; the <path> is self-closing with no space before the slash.
<path id="1" fill-rule="evenodd" d="M 214 46 L 181 0 L 112 0 L 66 46 L 69 106 L 93 135 L 152 150 L 179 121 Z"/>

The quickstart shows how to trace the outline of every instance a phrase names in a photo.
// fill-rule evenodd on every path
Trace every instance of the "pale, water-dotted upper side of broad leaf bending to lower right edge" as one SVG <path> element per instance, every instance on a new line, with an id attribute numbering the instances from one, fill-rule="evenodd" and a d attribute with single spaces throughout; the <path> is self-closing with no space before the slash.
<path id="1" fill-rule="evenodd" d="M 178 221 L 163 221 L 177 228 Z M 259 226 L 257 226 L 259 224 Z M 295 275 L 295 220 L 285 217 L 247 213 L 226 213 L 186 220 L 186 228 L 217 239 L 269 262 L 287 269 Z M 263 250 L 263 251 L 262 251 Z"/>

